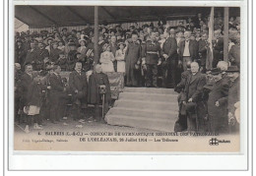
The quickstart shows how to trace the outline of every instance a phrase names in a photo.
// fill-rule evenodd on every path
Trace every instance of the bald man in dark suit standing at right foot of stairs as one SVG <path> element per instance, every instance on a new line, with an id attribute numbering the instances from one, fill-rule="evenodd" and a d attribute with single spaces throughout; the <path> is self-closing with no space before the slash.
<path id="1" fill-rule="evenodd" d="M 187 77 L 185 85 L 185 96 L 183 104 L 186 106 L 187 112 L 187 130 L 197 131 L 201 124 L 202 117 L 198 116 L 201 106 L 198 105 L 202 101 L 203 88 L 206 85 L 205 75 L 199 72 L 199 65 L 197 62 L 191 63 L 191 74 Z"/>

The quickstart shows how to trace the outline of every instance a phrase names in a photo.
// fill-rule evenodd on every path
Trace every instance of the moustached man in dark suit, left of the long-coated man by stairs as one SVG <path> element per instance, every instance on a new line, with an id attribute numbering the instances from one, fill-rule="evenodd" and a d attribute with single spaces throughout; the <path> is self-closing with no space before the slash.
<path id="1" fill-rule="evenodd" d="M 77 62 L 75 71 L 69 75 L 69 88 L 73 96 L 73 118 L 74 120 L 82 118 L 82 108 L 87 106 L 87 75 L 82 72 L 82 63 Z"/>

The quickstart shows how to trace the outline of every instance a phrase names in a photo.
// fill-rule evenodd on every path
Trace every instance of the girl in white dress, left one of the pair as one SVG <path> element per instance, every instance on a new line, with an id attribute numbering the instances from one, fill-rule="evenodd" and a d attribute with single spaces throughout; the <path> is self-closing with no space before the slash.
<path id="1" fill-rule="evenodd" d="M 102 72 L 114 72 L 113 61 L 114 55 L 110 52 L 109 44 L 105 43 L 102 47 L 103 52 L 100 54 L 99 62 L 101 63 Z"/>

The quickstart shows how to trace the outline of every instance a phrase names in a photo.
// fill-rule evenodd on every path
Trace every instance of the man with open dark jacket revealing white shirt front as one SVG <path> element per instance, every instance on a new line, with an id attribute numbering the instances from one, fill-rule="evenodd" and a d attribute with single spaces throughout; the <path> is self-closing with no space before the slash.
<path id="1" fill-rule="evenodd" d="M 198 42 L 190 39 L 190 31 L 184 32 L 185 40 L 180 42 L 179 46 L 179 62 L 183 65 L 183 70 L 186 71 L 187 62 L 198 59 Z"/>

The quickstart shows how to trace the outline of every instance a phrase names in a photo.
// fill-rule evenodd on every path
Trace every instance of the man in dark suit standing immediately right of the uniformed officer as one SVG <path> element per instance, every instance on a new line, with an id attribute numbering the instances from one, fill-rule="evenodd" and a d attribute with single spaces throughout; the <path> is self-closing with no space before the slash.
<path id="1" fill-rule="evenodd" d="M 175 72 L 177 65 L 177 41 L 175 37 L 170 37 L 170 32 L 165 33 L 166 40 L 162 45 L 161 55 L 164 58 L 162 61 L 162 78 L 164 88 L 174 88 L 175 87 Z M 165 63 L 165 64 L 163 64 Z M 168 86 L 167 78 L 170 78 L 170 83 Z"/>

